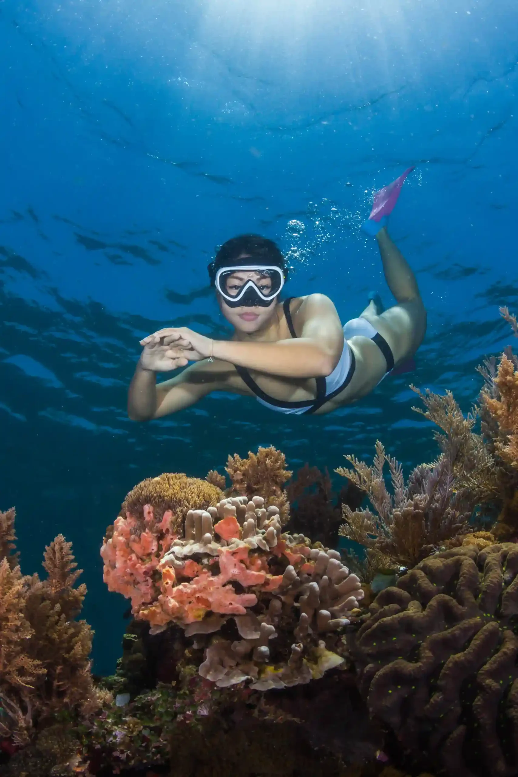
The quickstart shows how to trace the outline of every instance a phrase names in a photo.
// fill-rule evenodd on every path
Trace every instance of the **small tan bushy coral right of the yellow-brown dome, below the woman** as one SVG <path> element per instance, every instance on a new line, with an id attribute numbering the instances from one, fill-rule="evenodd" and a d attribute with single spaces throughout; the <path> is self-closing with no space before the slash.
<path id="1" fill-rule="evenodd" d="M 259 448 L 257 453 L 249 451 L 248 458 L 236 453 L 228 457 L 227 472 L 232 481 L 232 490 L 243 497 L 262 496 L 266 507 L 275 505 L 280 510 L 280 521 L 284 526 L 290 519 L 290 504 L 284 483 L 292 472 L 287 469 L 286 457 L 276 448 Z"/>

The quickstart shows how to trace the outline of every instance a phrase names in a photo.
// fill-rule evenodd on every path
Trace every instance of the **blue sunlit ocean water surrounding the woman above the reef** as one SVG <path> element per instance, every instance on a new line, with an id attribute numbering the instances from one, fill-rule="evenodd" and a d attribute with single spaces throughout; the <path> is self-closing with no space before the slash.
<path id="1" fill-rule="evenodd" d="M 468 411 L 509 341 L 498 307 L 518 309 L 517 26 L 511 0 L 0 4 L 0 508 L 25 572 L 73 542 L 96 671 L 127 609 L 99 547 L 139 480 L 269 444 L 332 470 L 377 438 L 408 472 L 436 454 L 408 383 Z M 217 394 L 128 420 L 142 336 L 228 336 L 206 267 L 233 235 L 278 241 L 289 294 L 329 294 L 344 322 L 372 288 L 391 304 L 360 225 L 410 165 L 391 235 L 428 310 L 415 372 L 327 416 Z"/>

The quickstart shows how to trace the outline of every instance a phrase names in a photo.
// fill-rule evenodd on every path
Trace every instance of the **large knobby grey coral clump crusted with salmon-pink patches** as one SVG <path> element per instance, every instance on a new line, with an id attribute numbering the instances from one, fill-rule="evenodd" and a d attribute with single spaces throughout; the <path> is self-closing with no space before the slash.
<path id="1" fill-rule="evenodd" d="M 117 519 L 103 545 L 112 590 L 127 591 L 154 632 L 174 624 L 195 636 L 204 678 L 266 690 L 342 663 L 340 629 L 363 596 L 360 580 L 338 552 L 282 535 L 278 507 L 256 496 L 190 510 L 184 538 L 168 535 L 167 552 L 151 549 L 138 563 L 133 549 L 144 534 L 136 541 L 128 523 Z"/>

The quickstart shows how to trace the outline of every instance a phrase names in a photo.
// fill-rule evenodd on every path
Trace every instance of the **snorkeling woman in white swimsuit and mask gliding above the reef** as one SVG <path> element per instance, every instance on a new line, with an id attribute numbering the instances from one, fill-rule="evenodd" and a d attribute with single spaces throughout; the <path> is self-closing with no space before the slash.
<path id="1" fill-rule="evenodd" d="M 412 168 L 411 168 L 412 169 Z M 342 326 L 324 294 L 279 301 L 287 267 L 276 244 L 259 235 L 225 242 L 208 270 L 231 340 L 212 340 L 186 327 L 160 329 L 143 346 L 128 396 L 133 420 L 177 413 L 210 392 L 256 399 L 280 413 L 332 413 L 369 394 L 408 361 L 426 331 L 426 310 L 408 263 L 386 222 L 410 170 L 376 193 L 363 228 L 375 236 L 397 304 L 383 310 L 370 295 L 360 317 Z M 189 367 L 189 361 L 195 362 Z M 185 370 L 156 384 L 158 372 Z"/>

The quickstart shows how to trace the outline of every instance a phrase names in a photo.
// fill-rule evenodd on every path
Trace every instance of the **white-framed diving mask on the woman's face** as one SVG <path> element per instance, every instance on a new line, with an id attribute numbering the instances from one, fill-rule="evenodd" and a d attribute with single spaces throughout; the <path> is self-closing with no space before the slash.
<path id="1" fill-rule="evenodd" d="M 259 280 L 243 281 L 235 277 L 235 273 L 256 272 L 261 275 Z M 284 274 L 280 267 L 264 264 L 245 264 L 241 267 L 221 267 L 214 278 L 217 291 L 224 298 L 229 308 L 252 308 L 259 305 L 267 308 L 284 285 Z"/>

